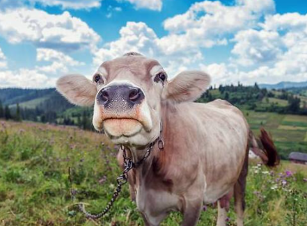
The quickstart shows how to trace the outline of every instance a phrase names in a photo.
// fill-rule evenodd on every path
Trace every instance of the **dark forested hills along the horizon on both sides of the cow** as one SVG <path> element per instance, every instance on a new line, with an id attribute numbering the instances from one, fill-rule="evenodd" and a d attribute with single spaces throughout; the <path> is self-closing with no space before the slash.
<path id="1" fill-rule="evenodd" d="M 243 110 L 307 115 L 307 87 L 267 90 L 255 86 L 219 86 L 207 90 L 198 102 L 226 99 Z M 32 120 L 91 128 L 91 108 L 68 103 L 54 88 L 0 89 L 0 118 Z"/>

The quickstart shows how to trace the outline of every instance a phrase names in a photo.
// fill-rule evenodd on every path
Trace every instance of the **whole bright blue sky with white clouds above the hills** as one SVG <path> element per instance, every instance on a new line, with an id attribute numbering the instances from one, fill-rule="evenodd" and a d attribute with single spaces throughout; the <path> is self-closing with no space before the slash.
<path id="1" fill-rule="evenodd" d="M 0 87 L 90 78 L 127 51 L 157 58 L 171 78 L 307 81 L 307 1 L 0 0 Z"/>

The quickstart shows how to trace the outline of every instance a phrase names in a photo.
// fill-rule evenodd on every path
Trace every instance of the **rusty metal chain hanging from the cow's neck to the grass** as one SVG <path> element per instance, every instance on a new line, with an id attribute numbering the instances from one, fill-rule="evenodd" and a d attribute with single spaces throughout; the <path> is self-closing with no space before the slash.
<path id="1" fill-rule="evenodd" d="M 107 204 L 107 207 L 104 208 L 104 210 L 100 213 L 97 214 L 93 214 L 93 213 L 89 213 L 88 211 L 86 211 L 85 209 L 85 205 L 83 203 L 79 203 L 77 204 L 79 207 L 79 211 L 81 211 L 82 213 L 84 213 L 84 215 L 86 216 L 86 218 L 88 219 L 98 219 L 98 218 L 102 218 L 102 216 L 106 215 L 109 210 L 111 209 L 111 207 L 113 206 L 113 203 L 116 201 L 116 198 L 118 197 L 120 191 L 122 190 L 122 186 L 124 184 L 127 183 L 128 181 L 128 172 L 130 170 L 132 170 L 132 168 L 138 168 L 143 161 L 145 161 L 145 159 L 148 158 L 148 156 L 150 156 L 150 153 L 152 151 L 152 147 L 154 147 L 155 143 L 158 140 L 158 147 L 159 150 L 163 150 L 164 149 L 164 143 L 162 140 L 162 122 L 160 122 L 160 134 L 159 137 L 152 143 L 150 143 L 148 150 L 146 151 L 145 155 L 143 156 L 143 158 L 141 160 L 139 160 L 138 162 L 134 163 L 132 161 L 132 159 L 130 159 L 129 157 L 127 157 L 127 149 L 124 145 L 120 145 L 120 148 L 123 150 L 123 158 L 124 158 L 124 170 L 123 173 L 116 179 L 117 181 L 117 187 L 116 190 L 113 193 L 113 196 L 110 200 L 110 202 Z M 131 152 L 131 150 L 130 150 Z M 70 168 L 68 168 L 68 176 L 69 176 L 69 180 L 70 180 L 70 186 L 72 186 L 72 177 L 71 177 L 71 170 Z M 76 200 L 75 195 L 77 194 L 77 191 L 74 189 L 70 189 L 70 194 L 72 196 L 72 201 L 74 202 Z"/>

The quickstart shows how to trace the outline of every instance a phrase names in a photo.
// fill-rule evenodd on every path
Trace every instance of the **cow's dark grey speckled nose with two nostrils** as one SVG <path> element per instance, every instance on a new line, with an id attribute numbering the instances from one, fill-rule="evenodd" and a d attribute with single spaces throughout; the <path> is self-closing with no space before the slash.
<path id="1" fill-rule="evenodd" d="M 124 101 L 129 105 L 139 104 L 144 99 L 141 89 L 133 86 L 109 86 L 100 90 L 98 101 L 107 106 L 111 102 Z"/>

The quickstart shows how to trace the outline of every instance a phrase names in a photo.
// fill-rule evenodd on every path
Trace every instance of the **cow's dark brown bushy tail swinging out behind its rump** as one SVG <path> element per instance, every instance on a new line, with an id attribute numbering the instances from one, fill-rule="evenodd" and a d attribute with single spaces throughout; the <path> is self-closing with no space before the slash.
<path id="1" fill-rule="evenodd" d="M 266 166 L 277 166 L 280 162 L 280 157 L 276 151 L 273 140 L 265 129 L 261 128 L 260 131 L 261 134 L 258 138 L 255 138 L 252 131 L 249 132 L 250 148 L 255 155 L 260 157 Z"/>

